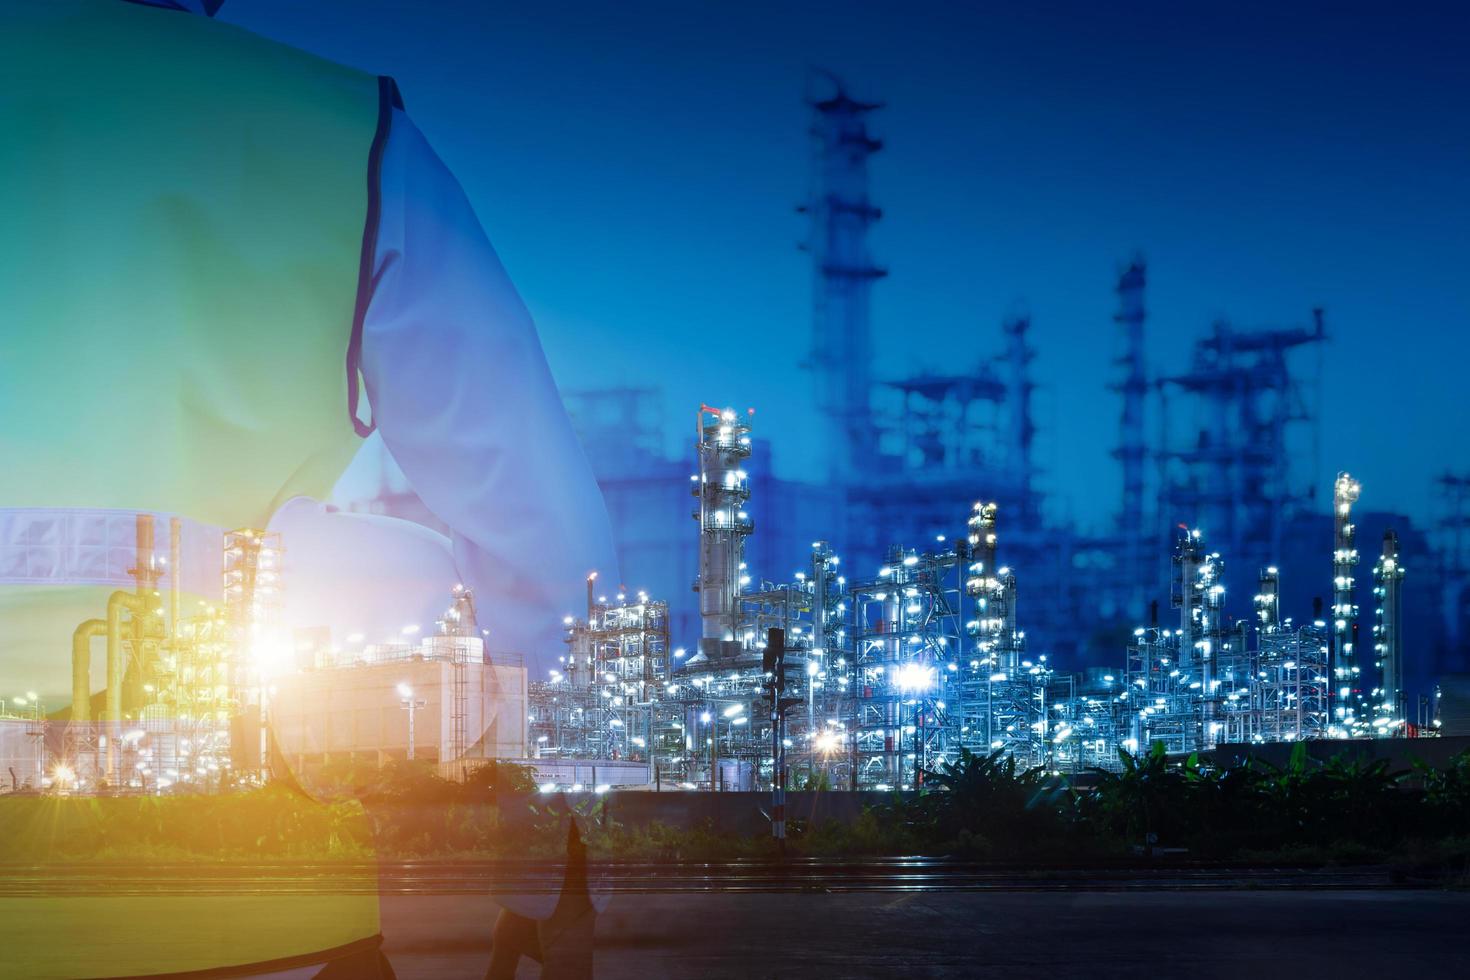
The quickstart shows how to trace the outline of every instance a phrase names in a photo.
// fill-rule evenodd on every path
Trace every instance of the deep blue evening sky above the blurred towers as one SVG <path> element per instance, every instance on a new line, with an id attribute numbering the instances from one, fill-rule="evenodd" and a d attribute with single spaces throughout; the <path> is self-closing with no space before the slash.
<path id="1" fill-rule="evenodd" d="M 1351 469 L 1366 507 L 1423 514 L 1433 473 L 1470 467 L 1467 15 L 1022 6 L 229 0 L 222 18 L 394 75 L 559 382 L 662 385 L 670 441 L 700 401 L 751 404 L 778 470 L 811 472 L 792 207 L 822 65 L 886 104 L 878 372 L 969 367 L 1028 309 L 1054 513 L 1101 527 L 1116 507 L 1111 288 L 1142 250 L 1157 366 L 1182 369 L 1216 317 L 1326 307 L 1316 476 Z"/>

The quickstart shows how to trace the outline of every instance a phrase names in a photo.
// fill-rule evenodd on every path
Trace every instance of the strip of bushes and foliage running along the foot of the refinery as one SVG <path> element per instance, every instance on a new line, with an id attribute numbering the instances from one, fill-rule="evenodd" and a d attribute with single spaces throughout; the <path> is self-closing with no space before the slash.
<path id="1" fill-rule="evenodd" d="M 1211 767 L 1163 746 L 1119 754 L 1119 771 L 1070 785 L 1022 770 L 1000 752 L 923 774 L 842 821 L 788 821 L 788 852 L 819 857 L 950 854 L 976 861 L 1107 862 L 1130 848 L 1180 848 L 1191 858 L 1342 862 L 1395 855 L 1413 867 L 1470 868 L 1470 752 L 1444 767 L 1394 771 L 1382 760 L 1316 763 L 1305 745 L 1282 765 L 1247 758 Z M 290 789 L 213 796 L 0 796 L 0 861 L 363 861 L 373 857 L 556 857 L 576 818 L 592 855 L 638 860 L 767 858 L 769 835 L 710 824 L 616 823 L 606 798 L 526 790 L 529 771 L 488 764 L 465 783 L 432 767 L 341 767 L 313 783 L 326 802 Z M 335 799 L 335 801 L 334 801 Z M 512 818 L 506 818 L 510 814 Z M 1416 871 L 1417 873 L 1417 871 Z"/>

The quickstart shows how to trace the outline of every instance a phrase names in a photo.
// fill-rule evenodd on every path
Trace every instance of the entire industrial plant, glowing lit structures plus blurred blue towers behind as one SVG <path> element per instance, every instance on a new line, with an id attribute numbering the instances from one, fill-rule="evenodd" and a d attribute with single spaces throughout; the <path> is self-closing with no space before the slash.
<path id="1" fill-rule="evenodd" d="M 422 633 L 287 635 L 279 533 L 98 516 L 76 533 L 132 585 L 76 623 L 69 707 L 0 699 L 0 790 L 213 792 L 273 764 L 456 776 L 490 758 L 548 789 L 911 789 L 961 749 L 1078 773 L 1154 743 L 1435 735 L 1433 680 L 1467 666 L 1470 475 L 1441 479 L 1433 536 L 1360 513 L 1373 488 L 1348 473 L 1301 479 L 1320 425 L 1301 361 L 1327 342 L 1323 311 L 1216 322 L 1186 367 L 1161 370 L 1147 264 L 1125 263 L 1117 520 L 1086 533 L 1041 489 L 1029 317 L 973 369 L 873 376 L 879 106 L 838 88 L 811 109 L 804 363 L 829 479 L 776 479 L 779 436 L 757 439 L 753 411 L 698 407 L 691 475 L 663 454 L 656 389 L 570 395 L 623 573 L 648 591 L 567 582 L 585 601 L 564 649 L 520 655 L 490 649 L 495 623 L 448 582 Z M 401 492 L 360 508 L 434 523 Z"/>

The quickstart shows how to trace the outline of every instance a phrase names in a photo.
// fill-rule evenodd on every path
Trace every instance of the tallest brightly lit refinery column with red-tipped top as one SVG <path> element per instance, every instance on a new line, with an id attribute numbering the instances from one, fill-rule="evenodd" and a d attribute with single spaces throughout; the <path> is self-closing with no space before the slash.
<path id="1" fill-rule="evenodd" d="M 707 660 L 723 660 L 741 652 L 735 630 L 739 626 L 739 594 L 745 576 L 745 538 L 754 525 L 745 511 L 750 482 L 744 461 L 750 457 L 750 425 L 732 408 L 700 407 L 700 472 L 694 497 L 700 507 L 700 652 Z"/>

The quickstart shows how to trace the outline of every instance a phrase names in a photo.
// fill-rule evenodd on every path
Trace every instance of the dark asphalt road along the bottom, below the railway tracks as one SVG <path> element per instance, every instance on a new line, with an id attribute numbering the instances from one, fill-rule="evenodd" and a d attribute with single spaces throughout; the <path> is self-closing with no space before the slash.
<path id="1" fill-rule="evenodd" d="M 494 915 L 482 896 L 385 896 L 398 977 L 478 980 Z M 1470 893 L 1429 890 L 629 892 L 598 917 L 594 964 L 600 980 L 1464 977 L 1467 921 Z"/>

